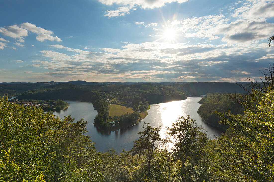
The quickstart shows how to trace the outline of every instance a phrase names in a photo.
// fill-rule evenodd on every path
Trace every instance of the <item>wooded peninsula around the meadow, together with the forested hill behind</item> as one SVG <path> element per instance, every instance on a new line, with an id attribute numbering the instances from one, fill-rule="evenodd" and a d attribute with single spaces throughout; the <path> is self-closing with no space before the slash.
<path id="1" fill-rule="evenodd" d="M 72 85 L 61 83 L 30 90 L 18 95 L 18 99 L 42 100 L 80 100 L 93 103 L 98 111 L 94 124 L 101 130 L 118 130 L 130 126 L 143 119 L 141 111 L 146 111 L 149 104 L 186 99 L 185 92 L 176 87 L 159 84 L 132 85 Z M 114 100 L 114 101 L 112 101 Z M 132 108 L 132 113 L 110 117 L 110 103 Z M 142 118 L 141 118 L 142 117 Z M 111 123 L 115 121 L 115 123 Z"/>

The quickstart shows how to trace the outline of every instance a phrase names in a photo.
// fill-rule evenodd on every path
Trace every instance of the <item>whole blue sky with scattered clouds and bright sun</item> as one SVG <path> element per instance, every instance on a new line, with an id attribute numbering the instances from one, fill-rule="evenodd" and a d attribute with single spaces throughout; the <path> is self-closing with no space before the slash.
<path id="1" fill-rule="evenodd" d="M 274 60 L 274 0 L 2 0 L 0 17 L 0 82 L 235 82 Z"/>

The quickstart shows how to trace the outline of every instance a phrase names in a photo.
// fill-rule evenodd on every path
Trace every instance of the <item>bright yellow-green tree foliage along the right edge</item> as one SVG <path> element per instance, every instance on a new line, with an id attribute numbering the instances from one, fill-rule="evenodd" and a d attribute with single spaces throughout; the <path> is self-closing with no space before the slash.
<path id="1" fill-rule="evenodd" d="M 253 90 L 250 101 L 242 102 L 244 115 L 218 113 L 222 122 L 232 128 L 234 136 L 218 139 L 222 157 L 241 170 L 249 180 L 273 181 L 274 178 L 274 90 Z"/>

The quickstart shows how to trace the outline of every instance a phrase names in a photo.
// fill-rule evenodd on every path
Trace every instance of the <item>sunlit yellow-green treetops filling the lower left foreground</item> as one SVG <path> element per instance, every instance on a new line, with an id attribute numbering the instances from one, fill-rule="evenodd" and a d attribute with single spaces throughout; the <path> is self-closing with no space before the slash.
<path id="1" fill-rule="evenodd" d="M 10 146 L 9 163 L 18 161 L 20 175 L 16 180 L 41 181 L 41 172 L 46 181 L 53 182 L 74 181 L 85 173 L 87 181 L 100 178 L 100 154 L 89 136 L 84 136 L 86 123 L 83 119 L 74 121 L 70 116 L 60 120 L 41 108 L 9 104 L 2 98 L 0 140 Z M 13 166 L 12 170 L 17 170 Z"/>

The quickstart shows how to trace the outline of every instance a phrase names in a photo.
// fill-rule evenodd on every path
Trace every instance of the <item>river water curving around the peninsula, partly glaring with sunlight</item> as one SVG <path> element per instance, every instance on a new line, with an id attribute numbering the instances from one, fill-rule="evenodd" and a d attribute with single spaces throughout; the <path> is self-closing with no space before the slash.
<path id="1" fill-rule="evenodd" d="M 76 120 L 83 118 L 84 121 L 88 121 L 86 126 L 88 132 L 86 134 L 90 136 L 92 142 L 95 142 L 95 147 L 98 151 L 106 152 L 113 147 L 117 152 L 121 152 L 122 149 L 132 149 L 133 142 L 138 139 L 139 135 L 137 133 L 142 130 L 141 125 L 144 122 L 149 122 L 152 127 L 162 126 L 160 134 L 161 137 L 165 137 L 165 126 L 170 126 L 179 116 L 186 115 L 190 115 L 192 119 L 195 119 L 198 125 L 202 124 L 202 127 L 207 130 L 208 137 L 215 139 L 215 136 L 219 136 L 221 132 L 204 123 L 198 113 L 196 113 L 201 105 L 197 102 L 201 98 L 188 97 L 183 101 L 152 104 L 150 110 L 148 110 L 148 116 L 141 122 L 132 127 L 112 132 L 100 131 L 93 125 L 97 111 L 94 110 L 93 105 L 89 102 L 66 101 L 69 104 L 68 109 L 59 112 L 54 111 L 53 114 L 60 118 L 64 118 L 68 114 Z"/>

